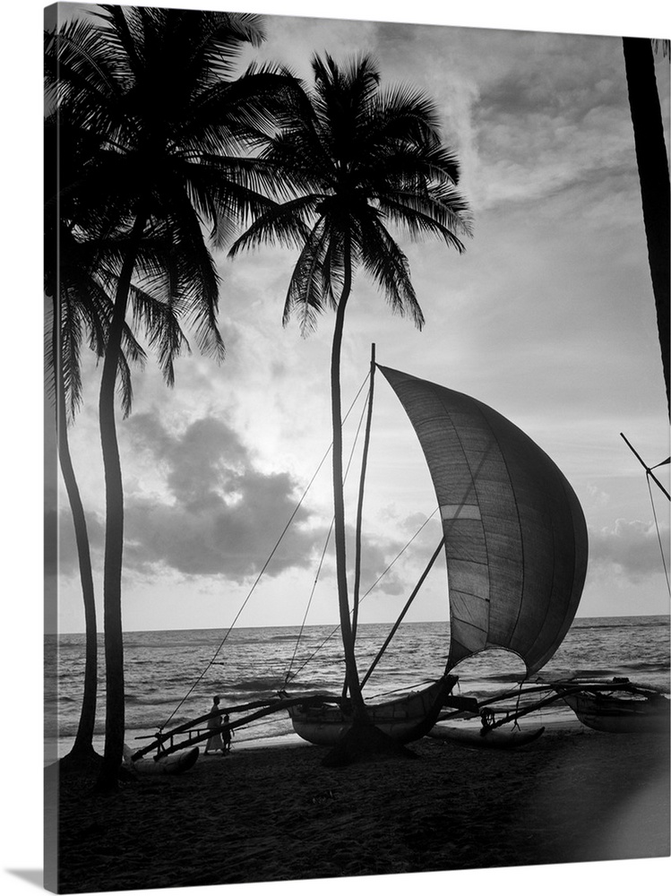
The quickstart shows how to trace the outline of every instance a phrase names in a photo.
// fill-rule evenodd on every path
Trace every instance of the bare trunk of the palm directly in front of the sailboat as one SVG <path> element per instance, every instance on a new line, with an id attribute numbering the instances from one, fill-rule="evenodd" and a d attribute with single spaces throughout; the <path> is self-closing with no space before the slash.
<path id="1" fill-rule="evenodd" d="M 345 246 L 345 279 L 338 302 L 331 347 L 331 424 L 333 427 L 333 515 L 335 519 L 336 577 L 340 632 L 345 650 L 345 669 L 354 718 L 367 720 L 366 705 L 361 694 L 354 650 L 354 636 L 349 619 L 347 553 L 345 547 L 345 496 L 342 482 L 342 412 L 340 401 L 340 348 L 345 323 L 345 308 L 352 288 L 352 271 L 348 243 Z"/>

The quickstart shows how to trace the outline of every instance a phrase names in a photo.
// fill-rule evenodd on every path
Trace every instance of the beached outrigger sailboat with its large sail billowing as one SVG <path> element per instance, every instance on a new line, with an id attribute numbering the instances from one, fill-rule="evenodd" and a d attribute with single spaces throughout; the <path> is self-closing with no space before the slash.
<path id="1" fill-rule="evenodd" d="M 568 480 L 518 426 L 481 401 L 391 367 L 382 372 L 419 439 L 440 509 L 443 537 L 391 633 L 362 678 L 371 675 L 435 559 L 444 553 L 450 643 L 443 676 L 416 692 L 366 704 L 369 720 L 392 740 L 424 737 L 445 708 L 477 713 L 475 699 L 452 694 L 452 669 L 482 650 L 516 653 L 527 674 L 542 668 L 563 642 L 581 599 L 588 558 L 587 527 Z M 372 392 L 372 382 L 371 382 Z M 370 421 L 370 411 L 369 411 Z M 155 761 L 210 737 L 213 715 L 250 713 L 228 728 L 287 711 L 297 734 L 336 745 L 353 725 L 346 695 L 291 697 L 220 708 L 172 731 L 159 732 L 133 760 Z"/>

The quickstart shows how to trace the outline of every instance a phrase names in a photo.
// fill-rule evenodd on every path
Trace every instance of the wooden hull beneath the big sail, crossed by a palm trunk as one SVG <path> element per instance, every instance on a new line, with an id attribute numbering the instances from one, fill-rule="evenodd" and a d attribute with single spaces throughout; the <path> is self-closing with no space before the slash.
<path id="1" fill-rule="evenodd" d="M 456 676 L 443 676 L 421 691 L 413 691 L 396 700 L 366 706 L 375 728 L 400 744 L 424 737 L 433 728 L 443 701 L 457 682 Z M 317 746 L 336 745 L 352 726 L 352 717 L 339 705 L 306 701 L 288 709 L 299 737 Z"/>

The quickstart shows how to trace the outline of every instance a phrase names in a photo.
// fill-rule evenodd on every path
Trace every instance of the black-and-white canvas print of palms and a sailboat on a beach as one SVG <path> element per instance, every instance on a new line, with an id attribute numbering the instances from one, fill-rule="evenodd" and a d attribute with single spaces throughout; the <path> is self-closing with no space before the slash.
<path id="1" fill-rule="evenodd" d="M 45 11 L 45 886 L 668 857 L 667 42 L 211 6 Z"/>

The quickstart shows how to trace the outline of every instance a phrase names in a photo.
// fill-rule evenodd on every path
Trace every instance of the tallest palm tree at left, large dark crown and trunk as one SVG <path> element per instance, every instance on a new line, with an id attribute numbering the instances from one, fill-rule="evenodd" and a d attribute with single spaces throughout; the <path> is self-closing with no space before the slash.
<path id="1" fill-rule="evenodd" d="M 99 788 L 116 788 L 124 745 L 121 573 L 124 492 L 116 437 L 115 391 L 133 275 L 148 240 L 172 247 L 164 301 L 188 314 L 202 351 L 216 360 L 219 279 L 202 232 L 222 246 L 245 214 L 266 207 L 267 178 L 246 142 L 271 126 L 286 80 L 250 66 L 232 80 L 245 43 L 262 40 L 257 16 L 103 6 L 94 19 L 65 24 L 47 41 L 47 76 L 57 108 L 82 132 L 99 136 L 82 177 L 88 199 L 73 232 L 97 220 L 102 241 L 124 251 L 113 271 L 99 394 L 105 469 L 104 588 L 107 711 Z M 91 216 L 89 212 L 95 210 Z M 158 273 L 158 269 L 153 271 Z"/>

